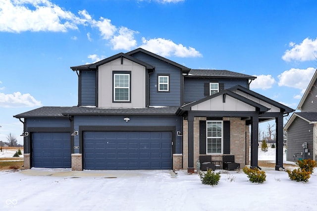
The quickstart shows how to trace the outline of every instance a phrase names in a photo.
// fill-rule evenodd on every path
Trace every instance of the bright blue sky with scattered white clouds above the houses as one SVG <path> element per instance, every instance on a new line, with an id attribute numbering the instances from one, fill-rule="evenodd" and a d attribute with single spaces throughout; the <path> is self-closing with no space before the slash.
<path id="1" fill-rule="evenodd" d="M 189 68 L 258 78 L 296 108 L 317 68 L 316 0 L 0 0 L 0 140 L 13 115 L 76 106 L 70 66 L 142 47 Z"/>

